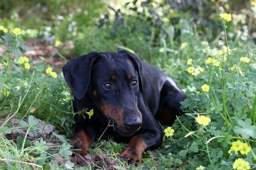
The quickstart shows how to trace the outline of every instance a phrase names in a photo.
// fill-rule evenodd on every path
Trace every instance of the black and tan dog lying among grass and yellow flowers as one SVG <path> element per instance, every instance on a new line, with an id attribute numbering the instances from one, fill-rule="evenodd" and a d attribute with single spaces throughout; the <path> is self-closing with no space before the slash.
<path id="1" fill-rule="evenodd" d="M 186 94 L 172 78 L 131 52 L 91 52 L 68 62 L 63 74 L 74 94 L 74 110 L 94 111 L 92 118 L 76 115 L 74 145 L 87 154 L 95 138 L 115 122 L 103 138 L 113 137 L 129 145 L 121 154 L 138 162 L 147 148 L 157 148 L 163 132 L 157 123 L 171 125 L 181 115 Z"/>

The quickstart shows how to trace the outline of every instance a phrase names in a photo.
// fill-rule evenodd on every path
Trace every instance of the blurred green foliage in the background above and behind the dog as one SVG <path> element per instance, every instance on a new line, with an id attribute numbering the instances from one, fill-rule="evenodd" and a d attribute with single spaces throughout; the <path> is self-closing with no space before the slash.
<path id="1" fill-rule="evenodd" d="M 39 44 L 58 47 L 68 58 L 127 47 L 156 63 L 164 45 L 193 41 L 195 36 L 182 36 L 189 32 L 205 41 L 221 39 L 219 13 L 224 11 L 232 13 L 230 40 L 253 38 L 255 1 L 239 0 L 2 0 L 0 25 L 8 31 L 20 27 L 30 46 L 40 39 Z"/>

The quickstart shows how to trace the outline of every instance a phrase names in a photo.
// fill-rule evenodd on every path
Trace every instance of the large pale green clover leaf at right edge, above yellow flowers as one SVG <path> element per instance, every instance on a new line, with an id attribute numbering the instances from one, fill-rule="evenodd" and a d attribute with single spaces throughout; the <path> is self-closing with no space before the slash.
<path id="1" fill-rule="evenodd" d="M 250 137 L 256 139 L 256 125 L 252 125 L 252 120 L 248 118 L 245 121 L 239 119 L 237 120 L 237 124 L 239 126 L 234 127 L 234 132 L 236 132 L 236 134 L 239 134 L 246 139 Z"/>

